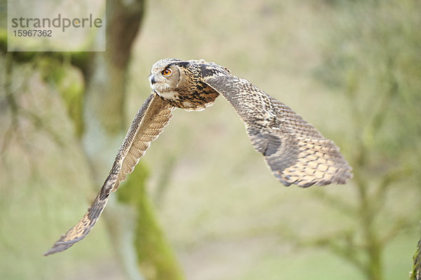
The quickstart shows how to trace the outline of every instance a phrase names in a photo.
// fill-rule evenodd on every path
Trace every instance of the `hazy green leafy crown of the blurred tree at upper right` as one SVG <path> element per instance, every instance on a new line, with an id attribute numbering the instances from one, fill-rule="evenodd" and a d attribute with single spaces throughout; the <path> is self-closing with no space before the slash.
<path id="1" fill-rule="evenodd" d="M 347 90 L 355 132 L 371 155 L 406 160 L 409 149 L 420 148 L 421 124 L 414 118 L 421 114 L 420 13 L 414 0 L 361 1 L 336 10 L 326 63 L 316 75 Z"/>

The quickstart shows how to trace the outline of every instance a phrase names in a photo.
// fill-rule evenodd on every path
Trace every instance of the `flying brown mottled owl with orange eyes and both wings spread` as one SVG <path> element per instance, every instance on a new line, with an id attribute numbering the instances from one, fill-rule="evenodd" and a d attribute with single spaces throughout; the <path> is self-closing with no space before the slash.
<path id="1" fill-rule="evenodd" d="M 324 138 L 288 106 L 225 67 L 204 60 L 161 59 L 151 69 L 152 93 L 135 115 L 112 169 L 91 207 L 44 255 L 58 253 L 91 230 L 109 194 L 131 173 L 152 140 L 161 134 L 175 108 L 201 111 L 222 95 L 239 115 L 251 144 L 276 179 L 285 186 L 346 183 L 352 178 L 347 161 L 333 141 Z"/>

